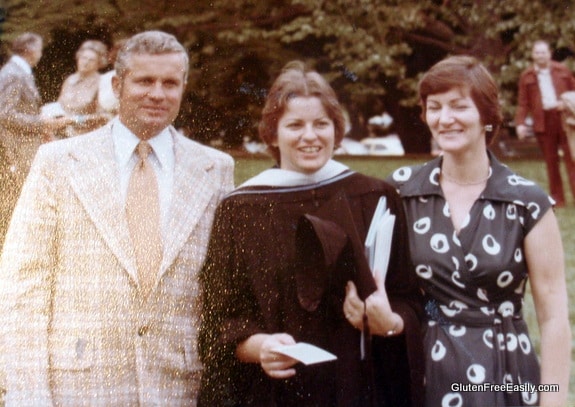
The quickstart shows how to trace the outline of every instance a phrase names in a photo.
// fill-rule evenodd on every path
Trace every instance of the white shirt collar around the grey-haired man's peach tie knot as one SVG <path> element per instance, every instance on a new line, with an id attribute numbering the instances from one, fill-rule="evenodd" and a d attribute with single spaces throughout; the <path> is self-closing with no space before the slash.
<path id="1" fill-rule="evenodd" d="M 132 133 L 118 117 L 112 121 L 112 138 L 116 149 L 116 158 L 123 168 L 130 162 L 140 139 Z M 158 135 L 149 139 L 148 142 L 160 166 L 162 168 L 169 167 L 174 160 L 174 141 L 172 140 L 169 127 L 166 127 Z"/>

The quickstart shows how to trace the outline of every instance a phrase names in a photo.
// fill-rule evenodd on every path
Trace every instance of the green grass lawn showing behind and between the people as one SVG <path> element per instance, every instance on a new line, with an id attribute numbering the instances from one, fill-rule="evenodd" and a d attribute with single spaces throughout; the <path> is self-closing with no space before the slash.
<path id="1" fill-rule="evenodd" d="M 350 168 L 362 172 L 367 175 L 372 175 L 379 178 L 385 178 L 395 168 L 403 165 L 412 165 L 419 162 L 428 160 L 429 157 L 337 157 L 338 161 L 343 162 Z M 545 165 L 541 160 L 527 160 L 527 159 L 509 159 L 502 161 L 510 168 L 516 171 L 519 175 L 529 178 L 545 190 L 547 189 L 547 176 L 545 173 Z M 236 185 L 247 180 L 251 176 L 259 173 L 260 171 L 269 168 L 273 161 L 268 158 L 256 157 L 238 157 L 236 158 Z M 564 174 L 565 191 L 569 191 Z M 565 250 L 565 271 L 567 275 L 567 289 L 570 299 L 570 312 L 569 321 L 571 321 L 571 330 L 575 338 L 575 306 L 572 301 L 575 298 L 575 202 L 569 194 L 567 194 L 567 207 L 556 210 L 561 234 L 563 237 L 563 246 Z M 533 308 L 531 296 L 525 298 L 525 319 L 529 325 L 531 338 L 534 345 L 539 349 L 539 329 L 537 327 L 537 320 Z M 573 342 L 575 346 L 575 340 Z M 575 366 L 572 359 L 572 371 Z M 571 383 L 569 386 L 569 405 L 575 405 L 575 375 L 571 375 Z"/>

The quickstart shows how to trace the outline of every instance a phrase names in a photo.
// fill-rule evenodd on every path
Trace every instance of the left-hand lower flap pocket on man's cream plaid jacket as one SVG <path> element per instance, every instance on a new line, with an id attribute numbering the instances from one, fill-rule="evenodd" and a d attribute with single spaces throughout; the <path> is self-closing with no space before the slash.
<path id="1" fill-rule="evenodd" d="M 87 370 L 94 363 L 94 343 L 87 336 L 66 336 L 51 342 L 54 369 Z"/>

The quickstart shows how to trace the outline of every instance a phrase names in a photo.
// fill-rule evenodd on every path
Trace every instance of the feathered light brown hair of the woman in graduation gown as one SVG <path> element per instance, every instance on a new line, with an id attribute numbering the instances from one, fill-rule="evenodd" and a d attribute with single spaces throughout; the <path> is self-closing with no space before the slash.
<path id="1" fill-rule="evenodd" d="M 272 145 L 277 141 L 278 122 L 290 99 L 298 96 L 314 96 L 321 101 L 327 115 L 333 120 L 336 146 L 345 135 L 343 109 L 333 88 L 319 73 L 308 69 L 302 61 L 288 62 L 268 92 L 258 127 L 260 138 L 278 163 L 280 152 Z"/>

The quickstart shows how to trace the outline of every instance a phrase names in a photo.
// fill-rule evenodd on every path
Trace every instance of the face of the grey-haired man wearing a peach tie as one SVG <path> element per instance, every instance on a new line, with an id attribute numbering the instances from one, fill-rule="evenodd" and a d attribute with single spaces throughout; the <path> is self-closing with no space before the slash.
<path id="1" fill-rule="evenodd" d="M 142 140 L 170 125 L 180 110 L 185 71 L 178 53 L 132 55 L 124 78 L 112 80 L 122 123 Z"/>

